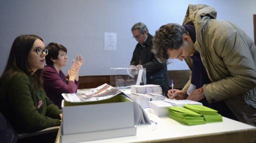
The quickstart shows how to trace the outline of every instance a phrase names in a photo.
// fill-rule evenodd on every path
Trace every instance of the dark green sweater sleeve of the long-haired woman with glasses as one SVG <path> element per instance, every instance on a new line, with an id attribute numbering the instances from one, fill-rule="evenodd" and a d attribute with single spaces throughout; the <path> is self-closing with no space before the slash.
<path id="1" fill-rule="evenodd" d="M 32 82 L 26 74 L 14 75 L 9 81 L 8 88 L 8 102 L 15 114 L 16 125 L 21 130 L 32 132 L 60 125 L 59 119 L 45 115 L 46 112 L 52 114 L 49 110 L 54 107 L 51 105 L 47 107 L 45 95 L 38 96 L 35 93 Z M 40 108 L 38 100 L 43 101 Z"/>

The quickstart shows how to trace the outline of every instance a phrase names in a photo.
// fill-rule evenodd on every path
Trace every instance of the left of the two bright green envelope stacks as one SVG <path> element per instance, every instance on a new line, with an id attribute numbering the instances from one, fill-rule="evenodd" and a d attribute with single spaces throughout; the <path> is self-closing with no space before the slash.
<path id="1" fill-rule="evenodd" d="M 201 114 L 180 106 L 169 107 L 169 117 L 186 125 L 205 123 Z"/>

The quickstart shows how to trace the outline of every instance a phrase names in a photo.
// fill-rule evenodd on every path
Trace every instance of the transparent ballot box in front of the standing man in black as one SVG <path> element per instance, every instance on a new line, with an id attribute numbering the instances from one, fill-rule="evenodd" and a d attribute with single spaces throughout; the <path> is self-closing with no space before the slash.
<path id="1" fill-rule="evenodd" d="M 145 85 L 146 68 L 110 68 L 110 85 L 113 87 L 123 87 L 130 85 Z"/>

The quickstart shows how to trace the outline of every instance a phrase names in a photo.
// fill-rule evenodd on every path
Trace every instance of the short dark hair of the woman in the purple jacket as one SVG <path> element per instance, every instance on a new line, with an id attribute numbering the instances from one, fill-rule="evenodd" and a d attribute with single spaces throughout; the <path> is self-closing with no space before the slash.
<path id="1" fill-rule="evenodd" d="M 48 49 L 48 54 L 45 56 L 47 65 L 53 65 L 51 58 L 58 59 L 59 50 L 67 52 L 67 48 L 65 46 L 56 42 L 50 42 L 45 48 Z"/>

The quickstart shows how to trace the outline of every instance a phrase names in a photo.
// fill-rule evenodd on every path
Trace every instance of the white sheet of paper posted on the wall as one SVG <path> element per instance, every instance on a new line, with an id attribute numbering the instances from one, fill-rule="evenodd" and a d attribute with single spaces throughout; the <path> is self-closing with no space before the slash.
<path id="1" fill-rule="evenodd" d="M 116 33 L 105 32 L 104 49 L 116 50 Z"/>

